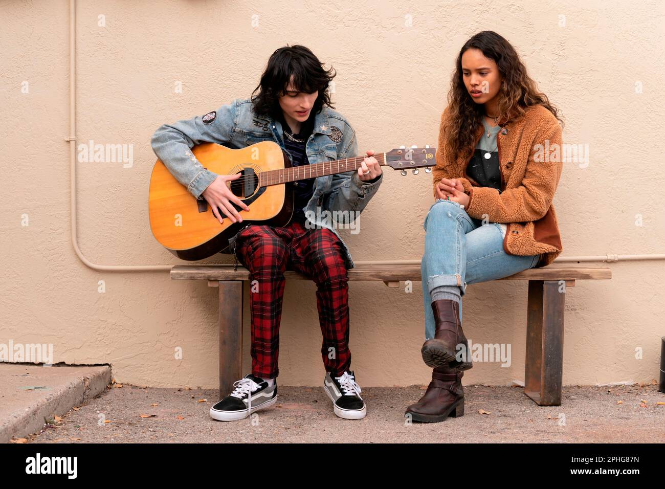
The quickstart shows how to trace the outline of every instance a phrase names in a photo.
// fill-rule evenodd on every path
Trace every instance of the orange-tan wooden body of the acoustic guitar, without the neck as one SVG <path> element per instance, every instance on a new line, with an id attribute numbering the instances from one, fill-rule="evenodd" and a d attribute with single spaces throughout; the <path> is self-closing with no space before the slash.
<path id="1" fill-rule="evenodd" d="M 191 261 L 230 253 L 229 238 L 247 224 L 285 226 L 293 217 L 293 184 L 258 185 L 257 174 L 291 166 L 279 144 L 263 141 L 232 150 L 204 143 L 194 146 L 192 153 L 204 168 L 218 175 L 243 174 L 227 184 L 249 211 L 241 212 L 241 223 L 233 223 L 221 214 L 223 224 L 219 224 L 209 204 L 194 198 L 157 160 L 150 176 L 150 229 L 156 240 L 177 257 Z"/>

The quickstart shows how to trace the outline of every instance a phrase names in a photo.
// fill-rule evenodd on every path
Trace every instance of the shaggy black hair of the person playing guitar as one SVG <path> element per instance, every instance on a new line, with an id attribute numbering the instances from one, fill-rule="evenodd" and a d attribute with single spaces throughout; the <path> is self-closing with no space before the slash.
<path id="1" fill-rule="evenodd" d="M 255 114 L 277 118 L 281 110 L 279 96 L 285 94 L 291 75 L 293 88 L 298 92 L 319 91 L 313 112 L 318 114 L 324 105 L 334 108 L 329 92 L 329 84 L 336 75 L 332 67 L 326 70 L 323 63 L 305 46 L 286 45 L 271 55 L 261 75 L 261 82 L 251 94 Z"/>

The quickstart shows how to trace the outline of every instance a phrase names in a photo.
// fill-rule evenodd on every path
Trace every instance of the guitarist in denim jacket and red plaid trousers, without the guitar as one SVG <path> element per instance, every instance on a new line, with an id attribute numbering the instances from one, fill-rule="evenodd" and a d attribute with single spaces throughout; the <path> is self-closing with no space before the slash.
<path id="1" fill-rule="evenodd" d="M 317 284 L 321 354 L 327 372 L 324 389 L 334 413 L 346 419 L 366 414 L 360 387 L 350 370 L 348 349 L 346 270 L 354 265 L 334 226 L 317 216 L 342 211 L 352 222 L 378 190 L 382 170 L 374 152 L 356 158 L 356 134 L 332 110 L 329 83 L 333 77 L 332 68 L 325 70 L 306 47 L 282 47 L 271 55 L 250 99 L 233 100 L 203 116 L 164 124 L 152 136 L 152 148 L 172 176 L 200 204 L 211 206 L 219 224 L 230 220 L 237 227 L 228 247 L 250 273 L 251 374 L 234 383 L 233 392 L 210 409 L 214 419 L 242 419 L 277 400 L 279 325 L 287 267 L 305 273 Z M 287 191 L 293 192 L 293 207 L 285 209 L 293 212 L 288 224 L 246 225 L 243 216 L 251 220 L 247 217 L 250 207 L 233 188 L 261 183 L 258 172 L 218 175 L 204 168 L 190 150 L 204 142 L 245 148 L 263 141 L 279 144 L 291 167 L 350 158 L 353 170 L 331 174 L 333 170 L 323 166 L 324 175 L 312 178 L 312 166 L 311 178 L 295 182 Z M 336 166 L 340 170 L 340 162 Z M 235 180 L 239 182 L 234 184 Z"/>

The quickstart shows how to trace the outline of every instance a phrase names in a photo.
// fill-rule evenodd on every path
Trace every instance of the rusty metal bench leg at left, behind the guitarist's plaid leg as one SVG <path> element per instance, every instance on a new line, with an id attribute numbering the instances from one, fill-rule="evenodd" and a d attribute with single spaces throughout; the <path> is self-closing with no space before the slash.
<path id="1" fill-rule="evenodd" d="M 243 368 L 243 282 L 219 281 L 219 399 L 229 395 Z"/>

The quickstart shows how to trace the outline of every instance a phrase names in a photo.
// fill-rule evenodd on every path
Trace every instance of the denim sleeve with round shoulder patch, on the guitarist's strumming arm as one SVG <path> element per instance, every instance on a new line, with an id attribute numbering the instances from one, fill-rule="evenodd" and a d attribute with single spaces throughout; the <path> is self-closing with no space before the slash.
<path id="1" fill-rule="evenodd" d="M 190 149 L 201 142 L 223 144 L 231 140 L 235 107 L 235 101 L 221 106 L 215 111 L 212 122 L 204 123 L 202 116 L 196 116 L 164 124 L 152 135 L 152 150 L 176 180 L 196 198 L 217 178 L 217 174 L 205 170 Z"/>

